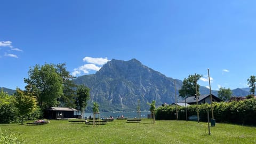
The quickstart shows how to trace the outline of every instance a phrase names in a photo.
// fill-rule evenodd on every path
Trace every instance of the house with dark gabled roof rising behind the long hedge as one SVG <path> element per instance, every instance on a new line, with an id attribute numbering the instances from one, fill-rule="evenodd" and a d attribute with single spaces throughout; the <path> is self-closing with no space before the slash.
<path id="1" fill-rule="evenodd" d="M 212 102 L 220 102 L 220 101 L 222 101 L 222 100 L 212 94 Z M 195 105 L 196 104 L 196 96 L 187 97 L 186 102 L 189 105 Z M 180 101 L 180 103 L 185 103 L 185 100 Z M 198 104 L 203 104 L 203 103 L 211 103 L 210 94 L 203 94 L 203 95 L 198 96 Z"/>

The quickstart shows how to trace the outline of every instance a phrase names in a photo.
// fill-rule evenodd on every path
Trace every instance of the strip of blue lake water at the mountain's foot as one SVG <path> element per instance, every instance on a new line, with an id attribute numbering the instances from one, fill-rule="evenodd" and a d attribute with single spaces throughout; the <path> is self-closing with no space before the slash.
<path id="1" fill-rule="evenodd" d="M 134 111 L 134 112 L 116 112 L 116 113 L 100 112 L 100 117 L 104 116 L 105 118 L 109 118 L 109 116 L 113 116 L 116 119 L 117 117 L 121 117 L 122 115 L 127 118 L 138 117 L 138 113 L 136 111 Z M 141 115 L 141 118 L 147 118 L 148 115 L 150 115 L 150 111 L 141 111 L 140 115 Z M 93 116 L 93 113 L 83 113 L 83 118 L 90 117 L 90 116 Z M 98 115 L 96 117 L 98 117 Z"/>

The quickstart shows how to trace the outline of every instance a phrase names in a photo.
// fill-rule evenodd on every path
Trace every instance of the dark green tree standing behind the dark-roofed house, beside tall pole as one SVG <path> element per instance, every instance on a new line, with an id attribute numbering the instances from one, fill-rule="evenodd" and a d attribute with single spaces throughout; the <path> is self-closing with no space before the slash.
<path id="1" fill-rule="evenodd" d="M 188 78 L 184 78 L 182 81 L 181 89 L 179 90 L 179 96 L 182 98 L 185 98 L 186 95 L 193 96 L 196 94 L 196 88 L 198 95 L 200 95 L 200 85 L 197 82 L 201 77 L 203 77 L 203 75 L 196 74 L 188 75 Z"/>

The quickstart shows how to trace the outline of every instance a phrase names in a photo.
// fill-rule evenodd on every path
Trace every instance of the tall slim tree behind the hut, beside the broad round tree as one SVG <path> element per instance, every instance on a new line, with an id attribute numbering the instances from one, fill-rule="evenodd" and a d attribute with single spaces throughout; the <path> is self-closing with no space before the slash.
<path id="1" fill-rule="evenodd" d="M 76 87 L 77 85 L 72 81 L 75 77 L 70 75 L 67 71 L 66 64 L 60 63 L 56 65 L 56 71 L 62 78 L 63 94 L 58 99 L 61 107 L 75 107 Z"/>

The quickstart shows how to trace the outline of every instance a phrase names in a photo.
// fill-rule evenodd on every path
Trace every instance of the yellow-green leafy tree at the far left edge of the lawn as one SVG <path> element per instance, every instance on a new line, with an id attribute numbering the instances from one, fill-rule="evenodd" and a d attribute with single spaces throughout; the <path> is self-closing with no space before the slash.
<path id="1" fill-rule="evenodd" d="M 17 119 L 17 109 L 14 107 L 14 98 L 4 92 L 0 91 L 0 123 L 10 123 Z"/>

